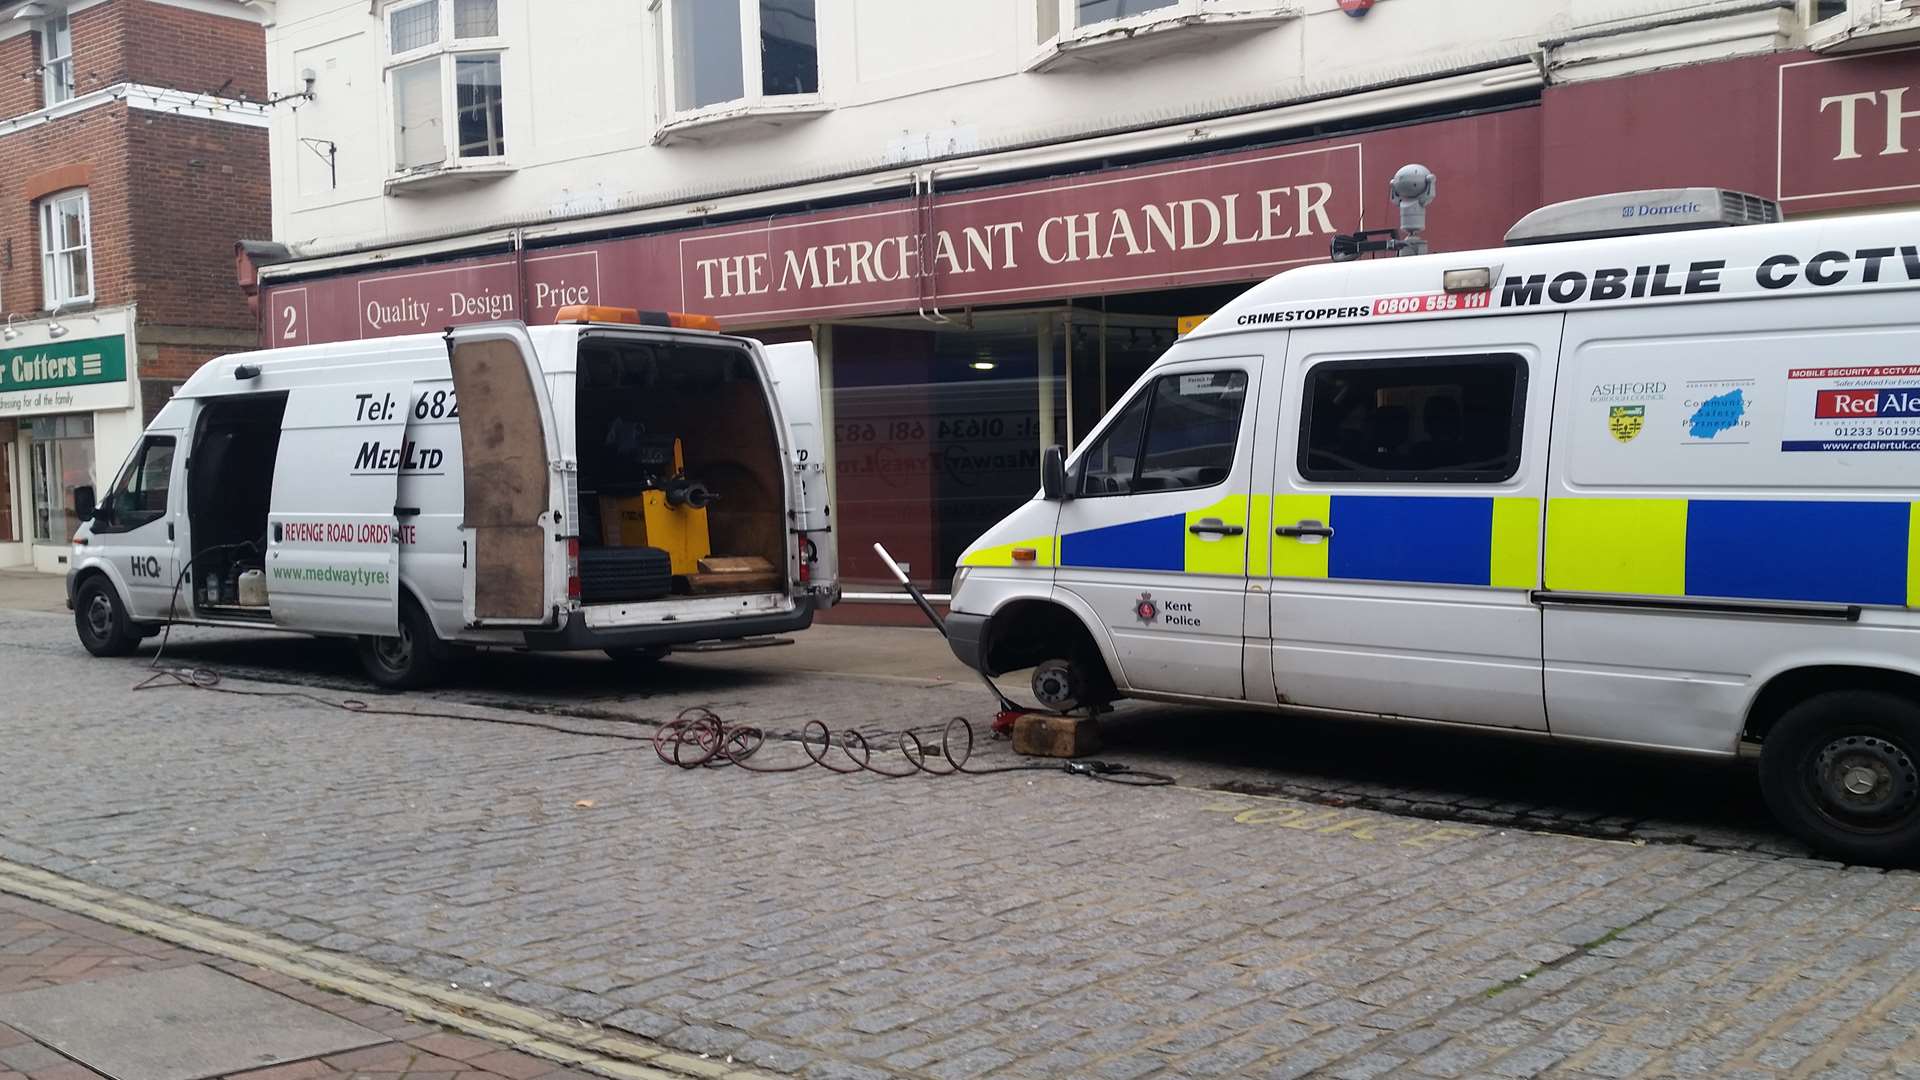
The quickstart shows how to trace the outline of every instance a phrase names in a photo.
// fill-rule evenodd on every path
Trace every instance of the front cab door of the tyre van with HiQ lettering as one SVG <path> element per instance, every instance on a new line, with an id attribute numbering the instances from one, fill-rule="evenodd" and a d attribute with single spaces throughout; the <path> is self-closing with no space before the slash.
<path id="1" fill-rule="evenodd" d="M 171 619 L 180 561 L 175 552 L 177 521 L 184 519 L 171 498 L 184 496 L 184 454 L 179 430 L 148 430 L 121 475 L 94 511 L 92 546 L 102 550 L 127 582 L 132 619 Z M 184 586 L 179 596 L 186 596 Z"/>

